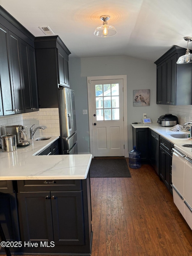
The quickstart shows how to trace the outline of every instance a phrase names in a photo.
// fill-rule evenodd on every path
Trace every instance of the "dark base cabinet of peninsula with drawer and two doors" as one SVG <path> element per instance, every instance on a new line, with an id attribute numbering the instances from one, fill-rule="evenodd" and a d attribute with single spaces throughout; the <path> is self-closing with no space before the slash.
<path id="1" fill-rule="evenodd" d="M 35 186 L 37 182 L 37 186 Z M 67 183 L 66 183 L 67 182 Z M 31 191 L 18 182 L 22 249 L 26 254 L 91 255 L 91 193 L 85 180 L 32 181 Z M 66 186 L 66 184 L 68 184 Z M 47 189 L 47 191 L 46 191 Z M 74 190 L 73 190 L 74 189 Z M 33 191 L 34 190 L 34 191 Z M 35 191 L 36 190 L 36 191 Z M 29 246 L 37 243 L 38 246 Z"/>

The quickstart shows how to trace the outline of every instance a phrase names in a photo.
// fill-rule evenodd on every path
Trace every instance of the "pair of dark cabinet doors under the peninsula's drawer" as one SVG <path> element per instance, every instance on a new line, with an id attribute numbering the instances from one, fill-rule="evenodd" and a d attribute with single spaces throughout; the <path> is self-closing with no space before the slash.
<path id="1" fill-rule="evenodd" d="M 84 244 L 82 191 L 21 192 L 19 202 L 23 240 L 40 246 L 44 241 L 49 245 L 51 241 L 55 245 Z M 36 251 L 44 252 L 45 248 Z"/>

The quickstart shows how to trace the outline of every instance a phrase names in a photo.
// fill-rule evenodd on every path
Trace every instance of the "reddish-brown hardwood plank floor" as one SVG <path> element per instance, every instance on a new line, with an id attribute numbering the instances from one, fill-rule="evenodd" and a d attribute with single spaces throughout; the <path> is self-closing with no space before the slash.
<path id="1" fill-rule="evenodd" d="M 91 178 L 91 256 L 192 255 L 192 230 L 154 169 Z"/>

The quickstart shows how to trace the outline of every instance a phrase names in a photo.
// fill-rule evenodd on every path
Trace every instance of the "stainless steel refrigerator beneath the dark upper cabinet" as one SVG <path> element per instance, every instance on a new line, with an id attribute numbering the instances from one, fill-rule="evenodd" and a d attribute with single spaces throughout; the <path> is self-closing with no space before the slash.
<path id="1" fill-rule="evenodd" d="M 59 88 L 59 118 L 63 154 L 78 154 L 74 91 Z"/>

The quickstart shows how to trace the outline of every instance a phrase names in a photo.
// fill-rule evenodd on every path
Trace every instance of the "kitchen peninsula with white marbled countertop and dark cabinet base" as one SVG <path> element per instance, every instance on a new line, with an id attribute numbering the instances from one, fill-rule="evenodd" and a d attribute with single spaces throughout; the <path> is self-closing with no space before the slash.
<path id="1" fill-rule="evenodd" d="M 0 152 L 1 225 L 8 241 L 22 244 L 12 254 L 91 254 L 92 155 L 38 155 L 57 139 Z"/>

